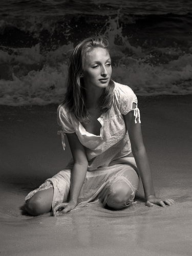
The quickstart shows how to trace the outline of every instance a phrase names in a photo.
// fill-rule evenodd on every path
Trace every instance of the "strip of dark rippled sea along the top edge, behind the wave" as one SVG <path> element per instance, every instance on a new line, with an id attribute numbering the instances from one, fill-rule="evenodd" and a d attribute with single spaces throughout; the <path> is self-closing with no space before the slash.
<path id="1" fill-rule="evenodd" d="M 174 5 L 169 0 L 145 0 L 145 1 L 126 1 L 126 0 L 1 0 L 0 18 L 2 17 L 21 17 L 21 16 L 62 16 L 65 14 L 90 14 L 93 15 L 114 15 L 119 9 L 122 13 L 129 14 L 186 14 L 192 8 L 191 1 L 175 0 Z"/>

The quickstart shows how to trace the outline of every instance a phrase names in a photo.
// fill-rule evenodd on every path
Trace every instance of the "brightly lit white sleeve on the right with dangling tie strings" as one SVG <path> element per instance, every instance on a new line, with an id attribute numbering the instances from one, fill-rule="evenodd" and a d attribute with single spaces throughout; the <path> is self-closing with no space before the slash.
<path id="1" fill-rule="evenodd" d="M 120 83 L 116 83 L 116 91 L 115 91 L 115 100 L 118 109 L 120 110 L 122 115 L 126 115 L 130 111 L 134 110 L 135 123 L 137 123 L 137 118 L 140 120 L 140 111 L 138 109 L 138 100 L 134 91 L 129 87 Z M 135 108 L 133 108 L 133 103 L 136 104 Z"/>

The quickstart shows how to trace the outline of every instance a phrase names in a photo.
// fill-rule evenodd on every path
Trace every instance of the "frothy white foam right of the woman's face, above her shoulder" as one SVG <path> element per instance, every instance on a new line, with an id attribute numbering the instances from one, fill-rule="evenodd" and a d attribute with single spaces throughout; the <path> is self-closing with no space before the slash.
<path id="1" fill-rule="evenodd" d="M 129 85 L 137 95 L 191 94 L 192 55 L 158 66 L 139 61 L 128 67 L 120 64 L 113 69 L 113 78 Z"/>

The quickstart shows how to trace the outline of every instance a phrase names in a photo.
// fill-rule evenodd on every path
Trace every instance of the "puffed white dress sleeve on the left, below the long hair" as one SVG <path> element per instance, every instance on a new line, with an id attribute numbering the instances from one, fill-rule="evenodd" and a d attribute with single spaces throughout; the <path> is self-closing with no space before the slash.
<path id="1" fill-rule="evenodd" d="M 57 123 L 58 125 L 60 125 L 64 133 L 75 133 L 75 130 L 71 122 L 70 114 L 63 105 L 58 106 Z"/>

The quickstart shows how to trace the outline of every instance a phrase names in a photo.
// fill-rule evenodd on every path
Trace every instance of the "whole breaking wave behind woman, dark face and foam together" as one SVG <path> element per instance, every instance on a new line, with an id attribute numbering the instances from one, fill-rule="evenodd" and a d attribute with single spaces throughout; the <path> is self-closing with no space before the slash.
<path id="1" fill-rule="evenodd" d="M 150 17 L 147 24 L 148 19 Z M 30 17 L 23 24 L 19 21 L 14 28 L 10 23 L 0 24 L 3 35 L 0 39 L 0 104 L 61 102 L 66 91 L 70 54 L 83 38 L 82 31 L 97 31 L 109 39 L 113 79 L 127 84 L 137 95 L 192 93 L 192 42 L 186 37 L 187 32 L 181 34 L 186 40 L 175 38 L 175 31 L 167 37 L 159 32 L 157 39 L 153 35 L 157 33 L 157 25 L 150 25 L 153 33 L 149 35 L 146 24 L 141 30 L 141 23 L 136 22 L 135 17 L 120 14 L 102 18 L 72 15 L 46 22 L 35 18 L 35 21 Z M 90 26 L 92 30 L 88 29 Z M 12 33 L 8 33 L 10 31 Z M 13 40 L 15 34 L 17 39 Z"/>

